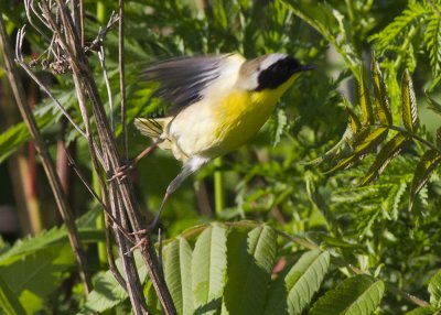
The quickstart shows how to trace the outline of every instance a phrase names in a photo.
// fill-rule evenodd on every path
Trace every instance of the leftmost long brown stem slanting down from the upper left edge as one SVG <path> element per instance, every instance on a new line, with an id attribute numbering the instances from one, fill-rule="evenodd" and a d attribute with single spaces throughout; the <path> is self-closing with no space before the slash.
<path id="1" fill-rule="evenodd" d="M 46 173 L 47 180 L 50 182 L 52 192 L 55 197 L 55 202 L 57 204 L 58 210 L 62 215 L 62 218 L 66 225 L 67 236 L 72 246 L 72 249 L 75 254 L 75 259 L 78 263 L 79 275 L 82 278 L 85 294 L 87 295 L 92 290 L 92 280 L 87 269 L 87 262 L 85 259 L 84 251 L 80 246 L 78 231 L 75 226 L 75 218 L 72 214 L 72 209 L 68 206 L 66 196 L 63 192 L 62 185 L 60 183 L 60 178 L 56 174 L 55 166 L 53 164 L 52 158 L 49 153 L 47 145 L 40 133 L 40 130 L 36 126 L 35 119 L 31 109 L 28 107 L 25 93 L 21 82 L 19 80 L 19 75 L 17 73 L 17 68 L 12 64 L 13 55 L 12 48 L 9 45 L 9 40 L 7 32 L 4 30 L 3 19 L 0 17 L 0 44 L 4 56 L 4 68 L 7 72 L 7 76 L 11 84 L 12 91 L 15 97 L 17 105 L 20 109 L 20 113 L 23 117 L 23 121 L 25 122 L 33 140 L 35 141 L 35 148 L 41 155 L 44 171 Z"/>

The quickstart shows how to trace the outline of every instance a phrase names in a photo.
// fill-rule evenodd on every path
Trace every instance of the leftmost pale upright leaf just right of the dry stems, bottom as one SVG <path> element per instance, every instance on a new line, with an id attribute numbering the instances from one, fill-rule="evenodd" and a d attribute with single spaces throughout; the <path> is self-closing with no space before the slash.
<path id="1" fill-rule="evenodd" d="M 192 248 L 179 237 L 164 248 L 164 276 L 178 314 L 194 314 Z"/>

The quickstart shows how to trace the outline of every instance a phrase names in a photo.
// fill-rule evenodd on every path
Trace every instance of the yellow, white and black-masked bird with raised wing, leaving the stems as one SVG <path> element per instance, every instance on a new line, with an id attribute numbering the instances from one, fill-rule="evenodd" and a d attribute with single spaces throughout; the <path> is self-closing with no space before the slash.
<path id="1" fill-rule="evenodd" d="M 148 66 L 141 77 L 160 84 L 157 95 L 171 106 L 170 116 L 137 118 L 135 126 L 183 162 L 151 226 L 189 175 L 255 135 L 300 73 L 313 67 L 287 54 L 184 57 Z"/>

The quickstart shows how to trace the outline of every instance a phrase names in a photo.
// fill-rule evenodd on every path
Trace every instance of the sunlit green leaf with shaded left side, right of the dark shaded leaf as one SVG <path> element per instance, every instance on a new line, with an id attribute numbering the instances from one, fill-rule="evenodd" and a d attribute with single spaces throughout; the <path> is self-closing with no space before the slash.
<path id="1" fill-rule="evenodd" d="M 263 314 L 302 314 L 329 268 L 327 251 L 305 252 L 284 276 L 280 275 L 272 283 Z"/>

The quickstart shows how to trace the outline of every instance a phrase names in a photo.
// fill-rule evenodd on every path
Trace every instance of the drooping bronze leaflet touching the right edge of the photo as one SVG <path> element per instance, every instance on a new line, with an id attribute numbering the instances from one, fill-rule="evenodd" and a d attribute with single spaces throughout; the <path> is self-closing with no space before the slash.
<path id="1" fill-rule="evenodd" d="M 437 150 L 429 150 L 422 156 L 413 173 L 412 184 L 410 186 L 409 209 L 412 208 L 415 197 L 421 191 L 422 186 L 429 181 L 430 175 L 441 162 L 441 154 Z"/>

